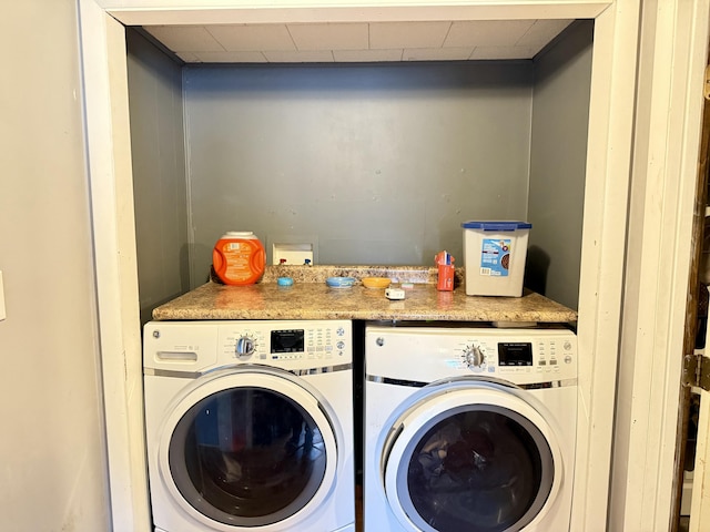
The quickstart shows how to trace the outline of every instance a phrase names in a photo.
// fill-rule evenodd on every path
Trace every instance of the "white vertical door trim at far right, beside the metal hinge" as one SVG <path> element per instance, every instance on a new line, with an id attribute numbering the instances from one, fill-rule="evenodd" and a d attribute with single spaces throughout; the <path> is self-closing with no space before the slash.
<path id="1" fill-rule="evenodd" d="M 643 2 L 610 530 L 673 519 L 709 16 L 708 0 Z"/>

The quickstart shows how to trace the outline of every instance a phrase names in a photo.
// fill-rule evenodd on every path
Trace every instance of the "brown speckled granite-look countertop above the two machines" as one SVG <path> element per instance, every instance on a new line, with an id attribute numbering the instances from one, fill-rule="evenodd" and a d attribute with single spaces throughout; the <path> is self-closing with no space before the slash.
<path id="1" fill-rule="evenodd" d="M 282 287 L 277 277 L 293 286 Z M 331 288 L 332 276 L 389 277 L 393 286 L 412 284 L 405 299 L 389 300 L 384 289 L 356 284 Z M 463 268 L 454 291 L 436 289 L 436 268 L 387 266 L 270 266 L 261 282 L 225 286 L 213 280 L 153 310 L 156 320 L 195 319 L 364 319 L 497 323 L 574 323 L 577 313 L 539 294 L 523 297 L 467 296 Z M 406 286 L 406 285 L 405 285 Z"/>

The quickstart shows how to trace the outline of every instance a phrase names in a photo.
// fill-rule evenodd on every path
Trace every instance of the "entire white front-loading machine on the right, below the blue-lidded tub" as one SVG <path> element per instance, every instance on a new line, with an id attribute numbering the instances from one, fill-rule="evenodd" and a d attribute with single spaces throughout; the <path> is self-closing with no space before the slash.
<path id="1" fill-rule="evenodd" d="M 365 532 L 569 531 L 577 341 L 367 326 Z"/>

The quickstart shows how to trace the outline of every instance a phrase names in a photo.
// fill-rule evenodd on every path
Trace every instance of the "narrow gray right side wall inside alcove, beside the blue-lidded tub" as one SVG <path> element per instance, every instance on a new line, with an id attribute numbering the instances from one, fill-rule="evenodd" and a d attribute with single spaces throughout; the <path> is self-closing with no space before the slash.
<path id="1" fill-rule="evenodd" d="M 571 308 L 579 297 L 594 23 L 574 23 L 535 59 L 526 284 Z"/>

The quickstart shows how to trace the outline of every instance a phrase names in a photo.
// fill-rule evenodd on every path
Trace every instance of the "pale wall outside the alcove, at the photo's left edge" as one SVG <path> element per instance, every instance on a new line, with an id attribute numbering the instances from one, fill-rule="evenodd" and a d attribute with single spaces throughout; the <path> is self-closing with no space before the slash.
<path id="1" fill-rule="evenodd" d="M 110 530 L 77 3 L 3 2 L 0 18 L 0 528 L 12 532 Z"/>

